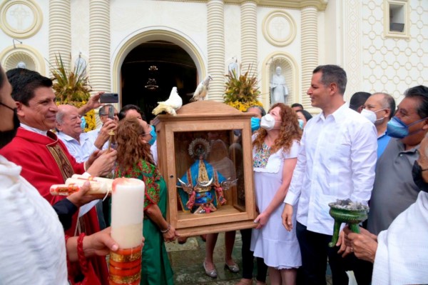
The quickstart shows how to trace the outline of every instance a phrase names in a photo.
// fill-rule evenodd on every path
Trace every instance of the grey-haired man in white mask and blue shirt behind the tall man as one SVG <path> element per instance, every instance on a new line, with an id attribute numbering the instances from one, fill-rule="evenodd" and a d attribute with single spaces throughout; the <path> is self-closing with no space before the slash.
<path id="1" fill-rule="evenodd" d="M 386 93 L 372 94 L 362 105 L 361 114 L 371 121 L 377 130 L 377 159 L 383 154 L 390 136 L 387 135 L 387 124 L 394 116 L 395 100 Z"/>

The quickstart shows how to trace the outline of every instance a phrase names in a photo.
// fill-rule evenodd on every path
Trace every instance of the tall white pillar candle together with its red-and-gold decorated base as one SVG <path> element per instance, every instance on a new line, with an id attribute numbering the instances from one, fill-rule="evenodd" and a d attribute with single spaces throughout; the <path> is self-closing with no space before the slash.
<path id="1" fill-rule="evenodd" d="M 133 178 L 113 181 L 111 237 L 119 246 L 110 252 L 110 284 L 140 284 L 143 240 L 144 182 Z"/>

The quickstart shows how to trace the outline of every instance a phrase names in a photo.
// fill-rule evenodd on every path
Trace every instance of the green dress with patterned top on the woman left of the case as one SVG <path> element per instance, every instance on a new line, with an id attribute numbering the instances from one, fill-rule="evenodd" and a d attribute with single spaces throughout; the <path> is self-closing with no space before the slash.
<path id="1" fill-rule="evenodd" d="M 162 216 L 166 216 L 167 188 L 165 180 L 156 166 L 141 159 L 132 169 L 120 171 L 115 169 L 116 177 L 128 177 L 141 179 L 146 184 L 146 196 L 144 197 L 144 209 L 152 204 L 157 204 Z M 144 241 L 141 260 L 141 285 L 173 284 L 173 269 L 171 269 L 168 254 L 165 249 L 165 241 L 161 229 L 144 216 L 143 221 Z"/>

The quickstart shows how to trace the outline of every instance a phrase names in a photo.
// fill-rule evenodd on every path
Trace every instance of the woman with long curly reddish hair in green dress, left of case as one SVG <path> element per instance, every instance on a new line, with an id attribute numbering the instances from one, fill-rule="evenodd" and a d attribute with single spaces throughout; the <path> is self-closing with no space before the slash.
<path id="1" fill-rule="evenodd" d="M 147 239 L 141 261 L 141 284 L 173 284 L 165 241 L 173 241 L 178 234 L 165 220 L 167 188 L 151 156 L 149 141 L 152 140 L 151 126 L 145 121 L 136 118 L 119 121 L 115 176 L 142 179 L 146 184 L 143 236 Z"/>

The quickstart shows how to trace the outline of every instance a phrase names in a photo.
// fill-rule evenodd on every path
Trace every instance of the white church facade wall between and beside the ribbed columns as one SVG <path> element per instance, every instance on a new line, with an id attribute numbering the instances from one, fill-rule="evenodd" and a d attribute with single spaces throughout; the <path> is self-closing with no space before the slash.
<path id="1" fill-rule="evenodd" d="M 7 0 L 0 0 L 6 3 Z M 42 11 L 41 28 L 35 34 L 16 41 L 14 49 L 10 35 L 0 29 L 0 60 L 14 51 L 23 49 L 39 54 L 41 72 L 49 75 L 49 0 L 28 0 Z M 89 56 L 89 1 L 71 0 L 71 56 L 73 61 L 81 53 Z M 133 36 L 151 29 L 164 29 L 178 34 L 195 46 L 195 52 L 208 66 L 207 4 L 180 1 L 111 0 L 111 62 L 120 54 L 121 47 Z M 397 102 L 404 91 L 417 84 L 428 85 L 428 1 L 408 0 L 409 39 L 384 37 L 384 0 L 329 0 L 327 9 L 319 11 L 318 63 L 339 64 L 350 74 L 346 99 L 354 91 L 384 91 L 392 94 Z M 265 39 L 263 21 L 275 11 L 285 11 L 295 21 L 297 33 L 287 46 L 274 46 Z M 240 5 L 225 4 L 225 74 L 228 64 L 235 56 L 240 63 L 241 21 Z M 267 68 L 264 66 L 272 55 L 286 55 L 295 60 L 297 71 L 301 60 L 301 11 L 258 6 L 258 78 L 260 91 L 268 92 Z M 356 39 L 358 41 L 356 41 Z M 352 51 L 351 48 L 357 48 Z M 122 55 L 123 56 L 123 55 Z M 200 72 L 200 71 L 199 71 Z M 204 73 L 206 72 L 203 71 Z M 112 74 L 112 80 L 118 74 Z M 201 74 L 198 74 L 201 76 Z M 287 81 L 294 81 L 285 74 Z M 301 80 L 299 74 L 297 81 Z M 301 84 L 301 83 L 300 83 Z M 305 96 L 307 86 L 293 90 Z M 302 94 L 302 95 L 300 95 Z"/>

